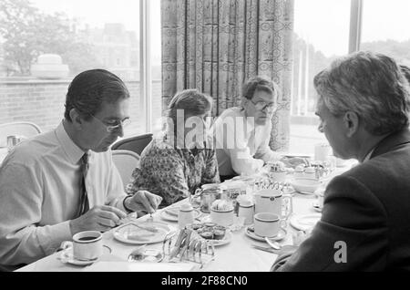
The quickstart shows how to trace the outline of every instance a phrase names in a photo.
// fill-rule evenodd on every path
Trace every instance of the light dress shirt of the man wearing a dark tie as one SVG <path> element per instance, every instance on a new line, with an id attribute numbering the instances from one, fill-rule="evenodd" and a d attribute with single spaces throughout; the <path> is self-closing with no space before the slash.
<path id="1" fill-rule="evenodd" d="M 85 152 L 61 123 L 15 147 L 0 168 L 0 265 L 29 264 L 71 240 L 77 218 L 80 159 Z M 89 152 L 89 208 L 108 204 L 125 211 L 126 194 L 111 151 Z"/>

